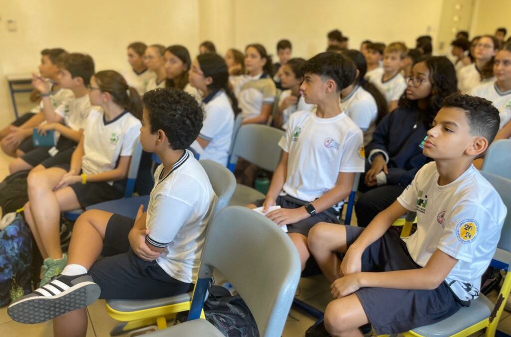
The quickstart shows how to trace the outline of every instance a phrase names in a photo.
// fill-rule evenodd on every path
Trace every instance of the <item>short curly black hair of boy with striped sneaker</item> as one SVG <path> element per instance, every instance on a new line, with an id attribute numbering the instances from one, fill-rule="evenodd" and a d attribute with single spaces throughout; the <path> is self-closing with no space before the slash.
<path id="1" fill-rule="evenodd" d="M 144 94 L 151 132 L 163 130 L 174 150 L 187 149 L 199 136 L 204 113 L 195 98 L 176 88 L 157 88 Z"/>

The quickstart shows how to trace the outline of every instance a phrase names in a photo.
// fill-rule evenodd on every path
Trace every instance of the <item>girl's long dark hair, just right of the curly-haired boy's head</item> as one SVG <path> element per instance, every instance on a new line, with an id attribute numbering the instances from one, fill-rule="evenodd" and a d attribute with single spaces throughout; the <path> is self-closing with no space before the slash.
<path id="1" fill-rule="evenodd" d="M 204 73 L 204 77 L 211 77 L 213 79 L 213 82 L 207 88 L 210 91 L 223 90 L 233 106 L 234 115 L 237 116 L 241 109 L 238 107 L 236 96 L 229 88 L 229 71 L 225 60 L 218 54 L 208 53 L 197 55 L 197 62 L 199 62 L 200 70 Z"/>

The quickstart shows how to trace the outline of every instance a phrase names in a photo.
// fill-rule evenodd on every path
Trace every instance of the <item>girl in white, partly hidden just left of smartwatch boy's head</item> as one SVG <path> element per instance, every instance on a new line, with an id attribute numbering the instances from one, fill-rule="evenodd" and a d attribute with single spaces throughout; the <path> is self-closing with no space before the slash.
<path id="1" fill-rule="evenodd" d="M 314 105 L 305 102 L 305 98 L 300 93 L 300 85 L 304 81 L 302 70 L 304 64 L 303 58 L 292 58 L 281 66 L 281 85 L 286 90 L 278 98 L 278 109 L 273 120 L 275 127 L 287 130 L 287 121 L 292 113 L 303 110 L 311 111 L 314 108 Z"/>

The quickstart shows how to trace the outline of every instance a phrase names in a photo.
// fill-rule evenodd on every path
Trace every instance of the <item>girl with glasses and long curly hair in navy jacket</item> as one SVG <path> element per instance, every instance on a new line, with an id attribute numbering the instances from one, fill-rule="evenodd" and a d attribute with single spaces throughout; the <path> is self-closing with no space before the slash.
<path id="1" fill-rule="evenodd" d="M 358 226 L 390 206 L 428 161 L 422 153 L 426 132 L 445 97 L 457 92 L 454 65 L 445 56 L 415 63 L 398 108 L 385 116 L 366 146 L 366 191 L 355 205 Z"/>

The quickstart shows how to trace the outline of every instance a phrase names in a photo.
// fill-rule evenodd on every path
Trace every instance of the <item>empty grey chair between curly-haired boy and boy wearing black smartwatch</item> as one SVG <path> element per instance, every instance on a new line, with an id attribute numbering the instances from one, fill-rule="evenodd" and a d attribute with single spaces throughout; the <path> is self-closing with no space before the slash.
<path id="1" fill-rule="evenodd" d="M 281 160 L 282 149 L 278 142 L 282 136 L 284 131 L 274 127 L 259 124 L 243 125 L 236 136 L 229 169 L 234 172 L 238 157 L 241 157 L 273 172 Z M 265 195 L 257 190 L 238 184 L 229 205 L 245 206 L 264 197 Z"/>

